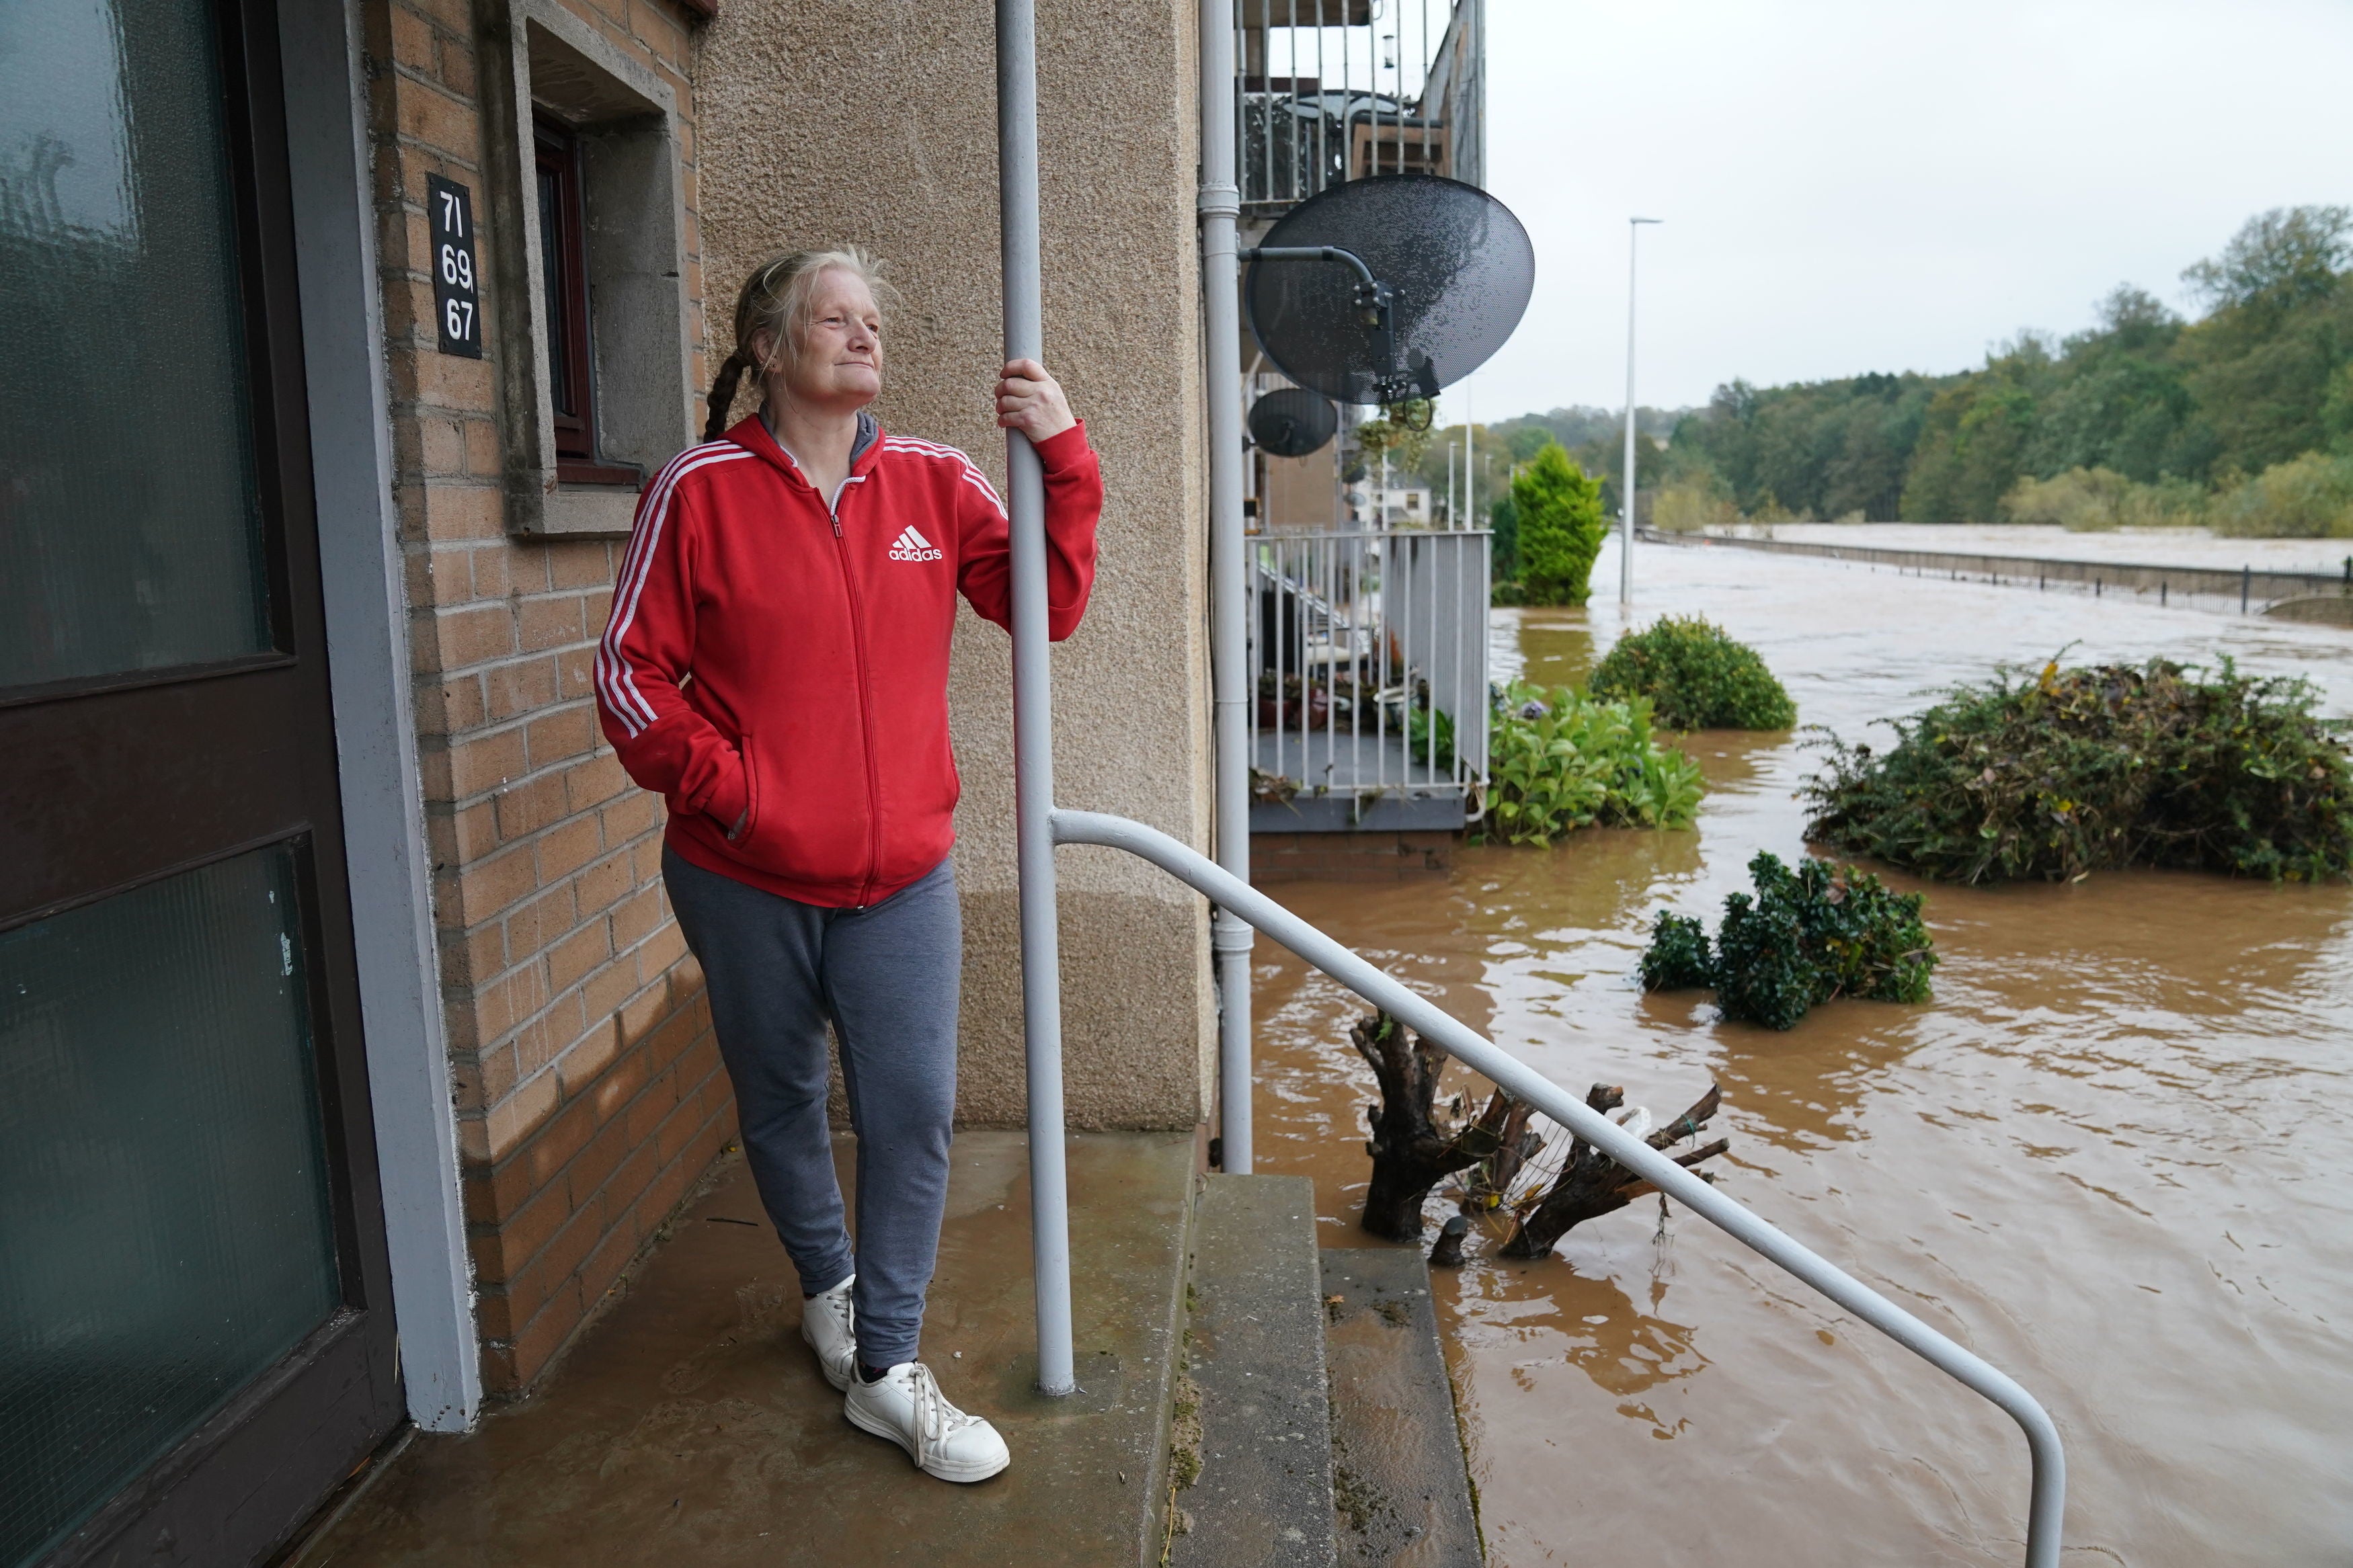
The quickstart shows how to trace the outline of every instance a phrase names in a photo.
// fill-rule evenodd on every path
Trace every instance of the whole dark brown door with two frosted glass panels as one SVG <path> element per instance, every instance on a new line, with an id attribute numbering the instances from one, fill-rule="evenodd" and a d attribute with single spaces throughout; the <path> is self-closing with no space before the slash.
<path id="1" fill-rule="evenodd" d="M 0 1566 L 400 1415 L 268 0 L 0 0 Z"/>

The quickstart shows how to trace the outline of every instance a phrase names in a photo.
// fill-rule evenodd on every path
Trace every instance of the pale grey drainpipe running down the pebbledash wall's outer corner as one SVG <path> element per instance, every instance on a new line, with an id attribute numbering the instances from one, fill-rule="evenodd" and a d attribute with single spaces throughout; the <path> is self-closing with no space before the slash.
<path id="1" fill-rule="evenodd" d="M 1233 0 L 1200 0 L 1200 292 L 1209 334 L 1209 693 L 1217 733 L 1217 863 L 1249 882 L 1249 576 L 1242 538 L 1242 299 L 1235 273 Z M 1217 954 L 1217 1100 L 1224 1168 L 1249 1173 L 1249 943 L 1228 910 Z"/>

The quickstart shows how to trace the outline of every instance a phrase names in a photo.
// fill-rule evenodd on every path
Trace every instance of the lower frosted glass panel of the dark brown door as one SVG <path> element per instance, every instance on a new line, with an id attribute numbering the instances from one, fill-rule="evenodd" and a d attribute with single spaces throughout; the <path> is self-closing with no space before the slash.
<path id="1" fill-rule="evenodd" d="M 0 933 L 0 1563 L 339 1305 L 294 856 Z"/>

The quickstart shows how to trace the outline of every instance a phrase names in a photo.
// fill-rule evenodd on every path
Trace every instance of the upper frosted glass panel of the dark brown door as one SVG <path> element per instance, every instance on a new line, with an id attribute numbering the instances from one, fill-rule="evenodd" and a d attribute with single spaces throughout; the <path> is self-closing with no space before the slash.
<path id="1" fill-rule="evenodd" d="M 271 642 L 209 9 L 0 0 L 0 686 Z"/>

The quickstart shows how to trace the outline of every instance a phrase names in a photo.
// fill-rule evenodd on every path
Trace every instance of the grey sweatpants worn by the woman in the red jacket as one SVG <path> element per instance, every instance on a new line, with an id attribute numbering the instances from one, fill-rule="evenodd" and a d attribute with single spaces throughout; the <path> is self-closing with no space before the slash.
<path id="1" fill-rule="evenodd" d="M 668 849 L 661 879 L 701 959 L 744 1159 L 800 1288 L 831 1291 L 856 1269 L 859 1361 L 913 1361 L 948 1201 L 965 950 L 955 865 L 866 910 L 762 893 Z M 826 1131 L 828 1018 L 859 1138 L 856 1248 Z"/>

